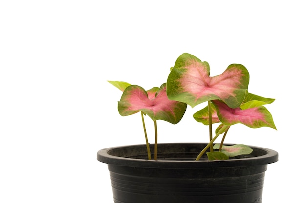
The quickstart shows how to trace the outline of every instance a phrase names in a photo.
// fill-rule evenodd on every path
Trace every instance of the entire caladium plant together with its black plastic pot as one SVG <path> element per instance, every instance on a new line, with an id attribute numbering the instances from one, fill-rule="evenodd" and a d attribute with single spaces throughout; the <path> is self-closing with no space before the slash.
<path id="1" fill-rule="evenodd" d="M 278 161 L 274 150 L 224 144 L 230 127 L 276 129 L 264 107 L 274 99 L 248 92 L 249 72 L 232 64 L 210 77 L 210 67 L 184 53 L 171 68 L 166 83 L 148 91 L 138 85 L 109 81 L 123 91 L 120 115 L 140 112 L 146 144 L 101 149 L 97 159 L 108 164 L 115 203 L 261 203 L 267 165 Z M 157 120 L 177 124 L 187 105 L 207 103 L 194 113 L 209 126 L 207 143 L 158 143 Z M 144 115 L 155 126 L 149 144 Z M 219 124 L 213 133 L 213 124 Z M 179 132 L 177 132 L 179 133 Z M 198 133 L 198 132 L 193 132 Z M 213 135 L 214 134 L 214 135 Z M 214 143 L 223 135 L 220 143 Z"/>

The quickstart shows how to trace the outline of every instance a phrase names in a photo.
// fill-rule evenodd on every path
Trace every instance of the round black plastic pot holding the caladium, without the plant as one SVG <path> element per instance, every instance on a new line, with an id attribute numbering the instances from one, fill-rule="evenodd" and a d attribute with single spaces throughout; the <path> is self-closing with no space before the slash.
<path id="1" fill-rule="evenodd" d="M 278 153 L 250 146 L 247 156 L 194 161 L 205 145 L 158 144 L 157 161 L 147 160 L 145 145 L 113 147 L 97 160 L 108 164 L 114 203 L 261 203 L 267 164 Z"/>

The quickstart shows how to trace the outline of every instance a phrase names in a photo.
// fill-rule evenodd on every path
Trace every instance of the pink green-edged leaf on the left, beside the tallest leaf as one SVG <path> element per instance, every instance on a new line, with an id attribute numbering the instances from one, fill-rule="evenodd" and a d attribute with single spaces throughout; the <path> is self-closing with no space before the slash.
<path id="1" fill-rule="evenodd" d="M 120 115 L 127 116 L 142 111 L 154 121 L 165 120 L 173 124 L 178 123 L 186 111 L 187 104 L 169 100 L 166 94 L 166 83 L 157 89 L 149 90 L 151 95 L 149 97 L 148 92 L 142 87 L 128 86 L 118 102 Z"/>

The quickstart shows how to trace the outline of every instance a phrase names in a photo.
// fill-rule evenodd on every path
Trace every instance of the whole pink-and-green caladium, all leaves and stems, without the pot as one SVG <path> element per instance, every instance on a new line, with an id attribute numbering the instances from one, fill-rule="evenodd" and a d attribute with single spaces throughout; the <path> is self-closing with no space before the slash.
<path id="1" fill-rule="evenodd" d="M 210 142 L 203 146 L 196 160 L 207 152 L 209 160 L 224 160 L 229 157 L 250 154 L 252 149 L 238 144 L 224 146 L 223 142 L 229 128 L 237 123 L 251 128 L 270 127 L 276 129 L 271 113 L 263 106 L 274 99 L 261 97 L 248 92 L 249 72 L 241 64 L 231 64 L 220 75 L 210 76 L 210 66 L 194 55 L 180 55 L 167 82 L 159 88 L 144 90 L 138 85 L 127 82 L 109 81 L 123 91 L 118 102 L 120 115 L 127 116 L 141 112 L 146 138 L 148 159 L 151 152 L 144 123 L 144 115 L 154 122 L 155 148 L 157 159 L 157 120 L 177 124 L 183 117 L 187 105 L 195 107 L 207 102 L 207 107 L 197 111 L 193 117 L 196 121 L 209 126 Z M 212 124 L 219 123 L 213 136 Z M 220 144 L 213 145 L 220 134 L 224 134 Z"/>

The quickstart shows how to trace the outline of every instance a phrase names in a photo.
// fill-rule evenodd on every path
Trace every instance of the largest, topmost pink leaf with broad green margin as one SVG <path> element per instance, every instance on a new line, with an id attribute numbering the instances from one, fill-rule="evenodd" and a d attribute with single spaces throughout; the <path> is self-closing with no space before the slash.
<path id="1" fill-rule="evenodd" d="M 191 107 L 220 99 L 231 108 L 239 107 L 249 84 L 247 69 L 241 64 L 232 64 L 218 76 L 209 75 L 207 62 L 188 53 L 180 55 L 167 79 L 169 99 L 187 103 Z"/>

